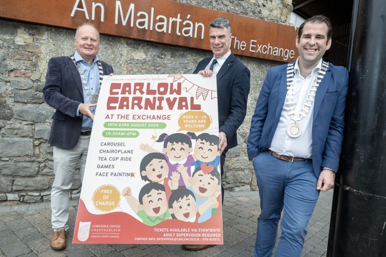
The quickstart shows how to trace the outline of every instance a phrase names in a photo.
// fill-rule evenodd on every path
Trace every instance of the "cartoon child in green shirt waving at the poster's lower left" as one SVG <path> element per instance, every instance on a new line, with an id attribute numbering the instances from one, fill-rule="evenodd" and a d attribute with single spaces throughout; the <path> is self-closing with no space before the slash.
<path id="1" fill-rule="evenodd" d="M 148 183 L 144 185 L 139 191 L 139 200 L 132 195 L 130 187 L 124 188 L 122 195 L 145 225 L 155 226 L 161 221 L 171 219 L 167 208 L 165 187 L 162 184 Z"/>

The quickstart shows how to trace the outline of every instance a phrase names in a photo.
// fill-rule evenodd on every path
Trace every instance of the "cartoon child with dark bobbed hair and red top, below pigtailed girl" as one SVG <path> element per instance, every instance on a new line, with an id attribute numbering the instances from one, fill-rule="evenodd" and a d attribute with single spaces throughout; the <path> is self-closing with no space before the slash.
<path id="1" fill-rule="evenodd" d="M 170 179 L 167 177 L 169 174 L 169 167 L 165 156 L 161 153 L 150 153 L 146 155 L 142 158 L 139 169 L 143 181 L 163 183 L 167 200 L 169 200 L 171 190 L 178 188 L 180 174 L 175 171 L 172 172 Z"/>

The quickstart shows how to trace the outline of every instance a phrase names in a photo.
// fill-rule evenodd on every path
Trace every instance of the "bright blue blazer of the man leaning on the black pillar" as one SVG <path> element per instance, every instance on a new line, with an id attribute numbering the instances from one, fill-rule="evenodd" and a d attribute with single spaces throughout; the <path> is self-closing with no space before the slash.
<path id="1" fill-rule="evenodd" d="M 286 67 L 268 69 L 251 120 L 247 142 L 250 160 L 271 146 L 287 92 Z M 330 63 L 314 102 L 312 163 L 316 177 L 323 167 L 338 170 L 347 88 L 347 69 Z"/>

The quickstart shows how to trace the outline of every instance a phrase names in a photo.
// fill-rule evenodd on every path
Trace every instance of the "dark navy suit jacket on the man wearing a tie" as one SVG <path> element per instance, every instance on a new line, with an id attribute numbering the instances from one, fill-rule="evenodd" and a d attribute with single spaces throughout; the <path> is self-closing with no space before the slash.
<path id="1" fill-rule="evenodd" d="M 213 56 L 199 62 L 193 72 L 204 70 Z M 217 73 L 217 105 L 219 112 L 219 130 L 227 136 L 231 149 L 237 146 L 236 131 L 243 123 L 247 112 L 247 100 L 250 88 L 250 72 L 244 64 L 231 54 Z"/>

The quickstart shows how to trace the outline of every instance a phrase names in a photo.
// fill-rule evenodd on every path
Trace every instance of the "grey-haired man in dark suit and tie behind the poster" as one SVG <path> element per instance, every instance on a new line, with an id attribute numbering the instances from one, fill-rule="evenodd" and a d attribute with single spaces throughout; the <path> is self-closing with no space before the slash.
<path id="1" fill-rule="evenodd" d="M 210 77 L 216 74 L 219 113 L 219 149 L 221 176 L 224 174 L 225 155 L 237 146 L 237 129 L 244 121 L 250 88 L 250 72 L 231 53 L 231 26 L 225 18 L 209 24 L 209 38 L 213 56 L 199 62 L 194 74 Z M 221 186 L 224 201 L 224 189 Z M 188 250 L 202 250 L 211 245 L 184 245 Z"/>

